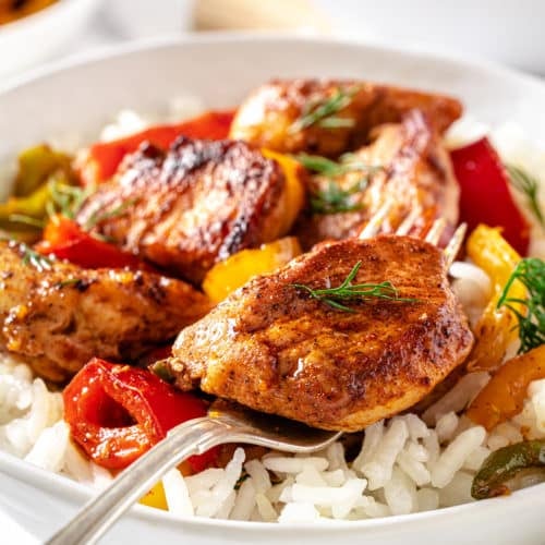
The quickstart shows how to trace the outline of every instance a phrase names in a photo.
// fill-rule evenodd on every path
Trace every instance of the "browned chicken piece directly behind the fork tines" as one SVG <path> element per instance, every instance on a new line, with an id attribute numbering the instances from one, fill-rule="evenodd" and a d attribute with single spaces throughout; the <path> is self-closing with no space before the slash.
<path id="1" fill-rule="evenodd" d="M 310 192 L 318 204 L 332 182 L 343 194 L 348 211 L 305 213 L 296 229 L 304 247 L 327 239 L 356 237 L 387 199 L 392 207 L 383 221 L 383 232 L 393 232 L 411 211 L 420 211 L 413 233 L 422 233 L 438 217 L 451 226 L 457 223 L 458 181 L 441 137 L 426 116 L 412 110 L 401 123 L 376 128 L 373 138 L 350 157 L 353 165 L 368 169 L 334 180 L 320 175 L 311 180 Z"/>

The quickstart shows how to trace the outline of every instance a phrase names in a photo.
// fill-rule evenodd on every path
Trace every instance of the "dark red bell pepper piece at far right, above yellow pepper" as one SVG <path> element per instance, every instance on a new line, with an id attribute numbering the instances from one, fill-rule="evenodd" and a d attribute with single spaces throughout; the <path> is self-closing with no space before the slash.
<path id="1" fill-rule="evenodd" d="M 450 153 L 460 184 L 460 221 L 501 227 L 502 237 L 528 255 L 530 229 L 509 192 L 509 174 L 487 138 Z"/>

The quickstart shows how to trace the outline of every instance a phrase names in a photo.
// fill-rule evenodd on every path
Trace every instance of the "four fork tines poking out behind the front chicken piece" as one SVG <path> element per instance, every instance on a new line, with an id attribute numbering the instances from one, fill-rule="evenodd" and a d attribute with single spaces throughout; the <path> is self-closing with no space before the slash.
<path id="1" fill-rule="evenodd" d="M 358 238 L 370 239 L 371 237 L 375 237 L 380 231 L 380 227 L 384 220 L 392 208 L 393 201 L 391 198 L 386 199 L 385 203 L 375 213 L 375 215 L 370 219 L 368 223 L 366 223 L 365 227 L 360 231 Z M 422 210 L 419 207 L 413 208 L 403 219 L 400 226 L 396 229 L 395 235 L 407 235 L 411 231 L 411 228 L 416 223 L 421 211 Z M 432 227 L 427 231 L 424 240 L 426 242 L 429 242 L 429 244 L 437 245 L 446 228 L 447 220 L 445 218 L 437 218 L 432 223 Z M 463 239 L 465 238 L 468 226 L 465 223 L 460 223 L 443 252 L 445 255 L 445 266 L 447 270 L 450 268 L 452 262 L 458 255 L 458 252 L 460 251 Z"/>

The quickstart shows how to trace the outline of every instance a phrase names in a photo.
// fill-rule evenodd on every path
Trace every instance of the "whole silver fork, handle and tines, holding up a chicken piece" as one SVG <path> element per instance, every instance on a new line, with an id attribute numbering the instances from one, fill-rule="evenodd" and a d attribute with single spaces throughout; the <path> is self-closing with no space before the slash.
<path id="1" fill-rule="evenodd" d="M 391 210 L 393 203 L 387 201 L 361 231 L 359 238 L 374 237 Z M 414 209 L 396 230 L 396 235 L 410 232 L 420 210 Z M 436 245 L 447 222 L 437 219 L 425 240 Z M 458 254 L 465 234 L 461 225 L 445 249 L 447 268 Z M 59 530 L 46 545 L 93 544 L 155 483 L 169 470 L 190 456 L 201 455 L 217 445 L 244 443 L 293 453 L 312 453 L 322 450 L 335 440 L 341 432 L 325 432 L 287 419 L 263 414 L 242 405 L 218 401 L 211 405 L 208 415 L 173 427 L 168 436 L 126 470 L 94 499 L 83 506 L 66 525 Z"/>

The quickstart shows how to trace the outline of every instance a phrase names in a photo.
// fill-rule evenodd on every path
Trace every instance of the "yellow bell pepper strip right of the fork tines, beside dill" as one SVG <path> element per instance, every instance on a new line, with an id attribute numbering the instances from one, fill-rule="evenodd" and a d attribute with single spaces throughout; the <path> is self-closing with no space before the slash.
<path id="1" fill-rule="evenodd" d="M 504 286 L 509 280 L 520 255 L 501 237 L 500 229 L 480 225 L 468 240 L 468 255 L 492 279 L 494 295 L 475 327 L 475 346 L 469 358 L 468 370 L 495 371 L 501 364 L 507 348 L 517 338 L 517 317 L 507 307 L 497 308 Z M 514 281 L 509 298 L 525 299 L 520 281 Z M 517 308 L 524 313 L 523 305 Z"/>

